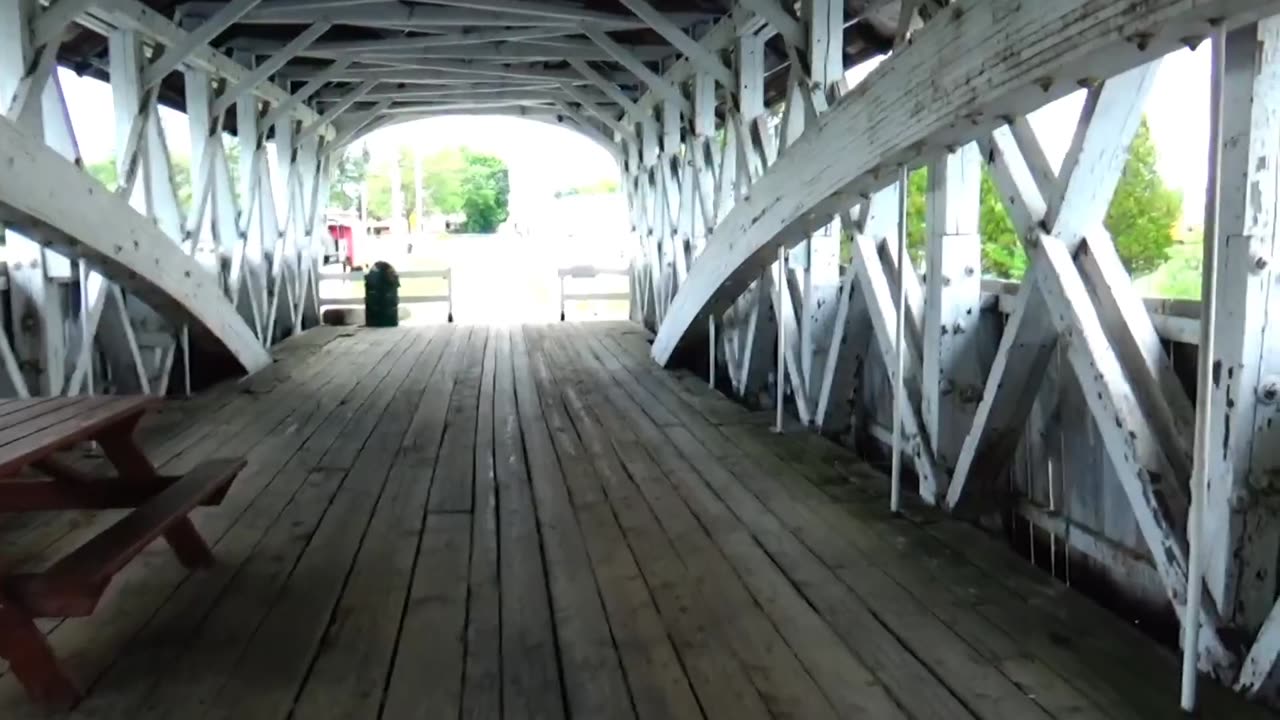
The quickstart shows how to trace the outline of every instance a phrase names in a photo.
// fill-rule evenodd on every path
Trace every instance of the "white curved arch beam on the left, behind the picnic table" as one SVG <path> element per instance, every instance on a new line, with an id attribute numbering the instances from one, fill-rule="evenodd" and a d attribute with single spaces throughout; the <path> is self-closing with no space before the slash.
<path id="1" fill-rule="evenodd" d="M 271 356 L 201 268 L 156 224 L 56 151 L 0 118 L 0 223 L 83 258 L 252 373 Z"/>

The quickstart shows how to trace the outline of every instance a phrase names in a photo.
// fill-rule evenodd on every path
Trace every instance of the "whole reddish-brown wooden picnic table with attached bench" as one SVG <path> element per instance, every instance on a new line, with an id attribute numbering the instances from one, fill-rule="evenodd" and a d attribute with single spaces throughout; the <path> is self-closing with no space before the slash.
<path id="1" fill-rule="evenodd" d="M 111 578 L 161 536 L 184 566 L 212 562 L 188 514 L 221 502 L 244 460 L 210 460 L 180 477 L 161 475 L 133 437 L 159 402 L 147 396 L 0 400 L 0 512 L 132 509 L 45 570 L 12 571 L 0 557 L 0 657 L 37 702 L 69 707 L 79 691 L 35 618 L 91 615 Z M 97 477 L 55 457 L 88 441 L 99 445 L 114 475 Z"/>

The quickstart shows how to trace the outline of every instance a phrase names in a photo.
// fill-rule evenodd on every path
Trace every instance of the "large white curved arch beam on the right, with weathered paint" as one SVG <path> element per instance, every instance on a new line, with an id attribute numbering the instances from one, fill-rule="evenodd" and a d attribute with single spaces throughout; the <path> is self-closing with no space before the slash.
<path id="1" fill-rule="evenodd" d="M 1275 14 L 1249 0 L 961 0 L 950 5 L 817 127 L 787 147 L 716 227 L 667 310 L 653 357 L 666 365 L 705 316 L 741 296 L 777 258 L 901 164 L 927 163 L 1080 87 L 1203 38 L 1210 19 Z"/>

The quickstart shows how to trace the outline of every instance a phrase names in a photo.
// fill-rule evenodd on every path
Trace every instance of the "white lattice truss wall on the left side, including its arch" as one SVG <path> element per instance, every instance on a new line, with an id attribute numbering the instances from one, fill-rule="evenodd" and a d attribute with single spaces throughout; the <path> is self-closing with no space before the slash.
<path id="1" fill-rule="evenodd" d="M 270 363 L 275 340 L 319 320 L 315 243 L 334 131 L 266 79 L 271 61 L 253 72 L 206 45 L 255 4 L 228 5 L 188 32 L 128 0 L 0 1 L 0 223 L 14 328 L 0 337 L 4 395 L 163 395 L 175 360 L 188 386 L 201 348 L 252 372 Z M 82 169 L 54 72 L 73 23 L 109 44 L 115 192 Z M 184 74 L 191 123 L 186 211 L 157 109 L 172 72 Z M 223 143 L 232 105 L 238 188 Z M 271 108 L 274 128 L 259 123 Z"/>

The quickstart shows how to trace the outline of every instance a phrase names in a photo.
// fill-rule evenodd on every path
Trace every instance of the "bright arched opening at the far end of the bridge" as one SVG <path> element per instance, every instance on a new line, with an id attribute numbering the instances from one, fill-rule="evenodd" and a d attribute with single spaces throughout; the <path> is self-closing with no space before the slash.
<path id="1" fill-rule="evenodd" d="M 500 115 L 398 122 L 353 142 L 337 176 L 329 213 L 356 237 L 325 273 L 389 261 L 402 295 L 439 299 L 408 309 L 415 320 L 630 316 L 618 167 L 577 133 Z M 320 292 L 328 304 L 358 287 L 323 279 Z"/>

